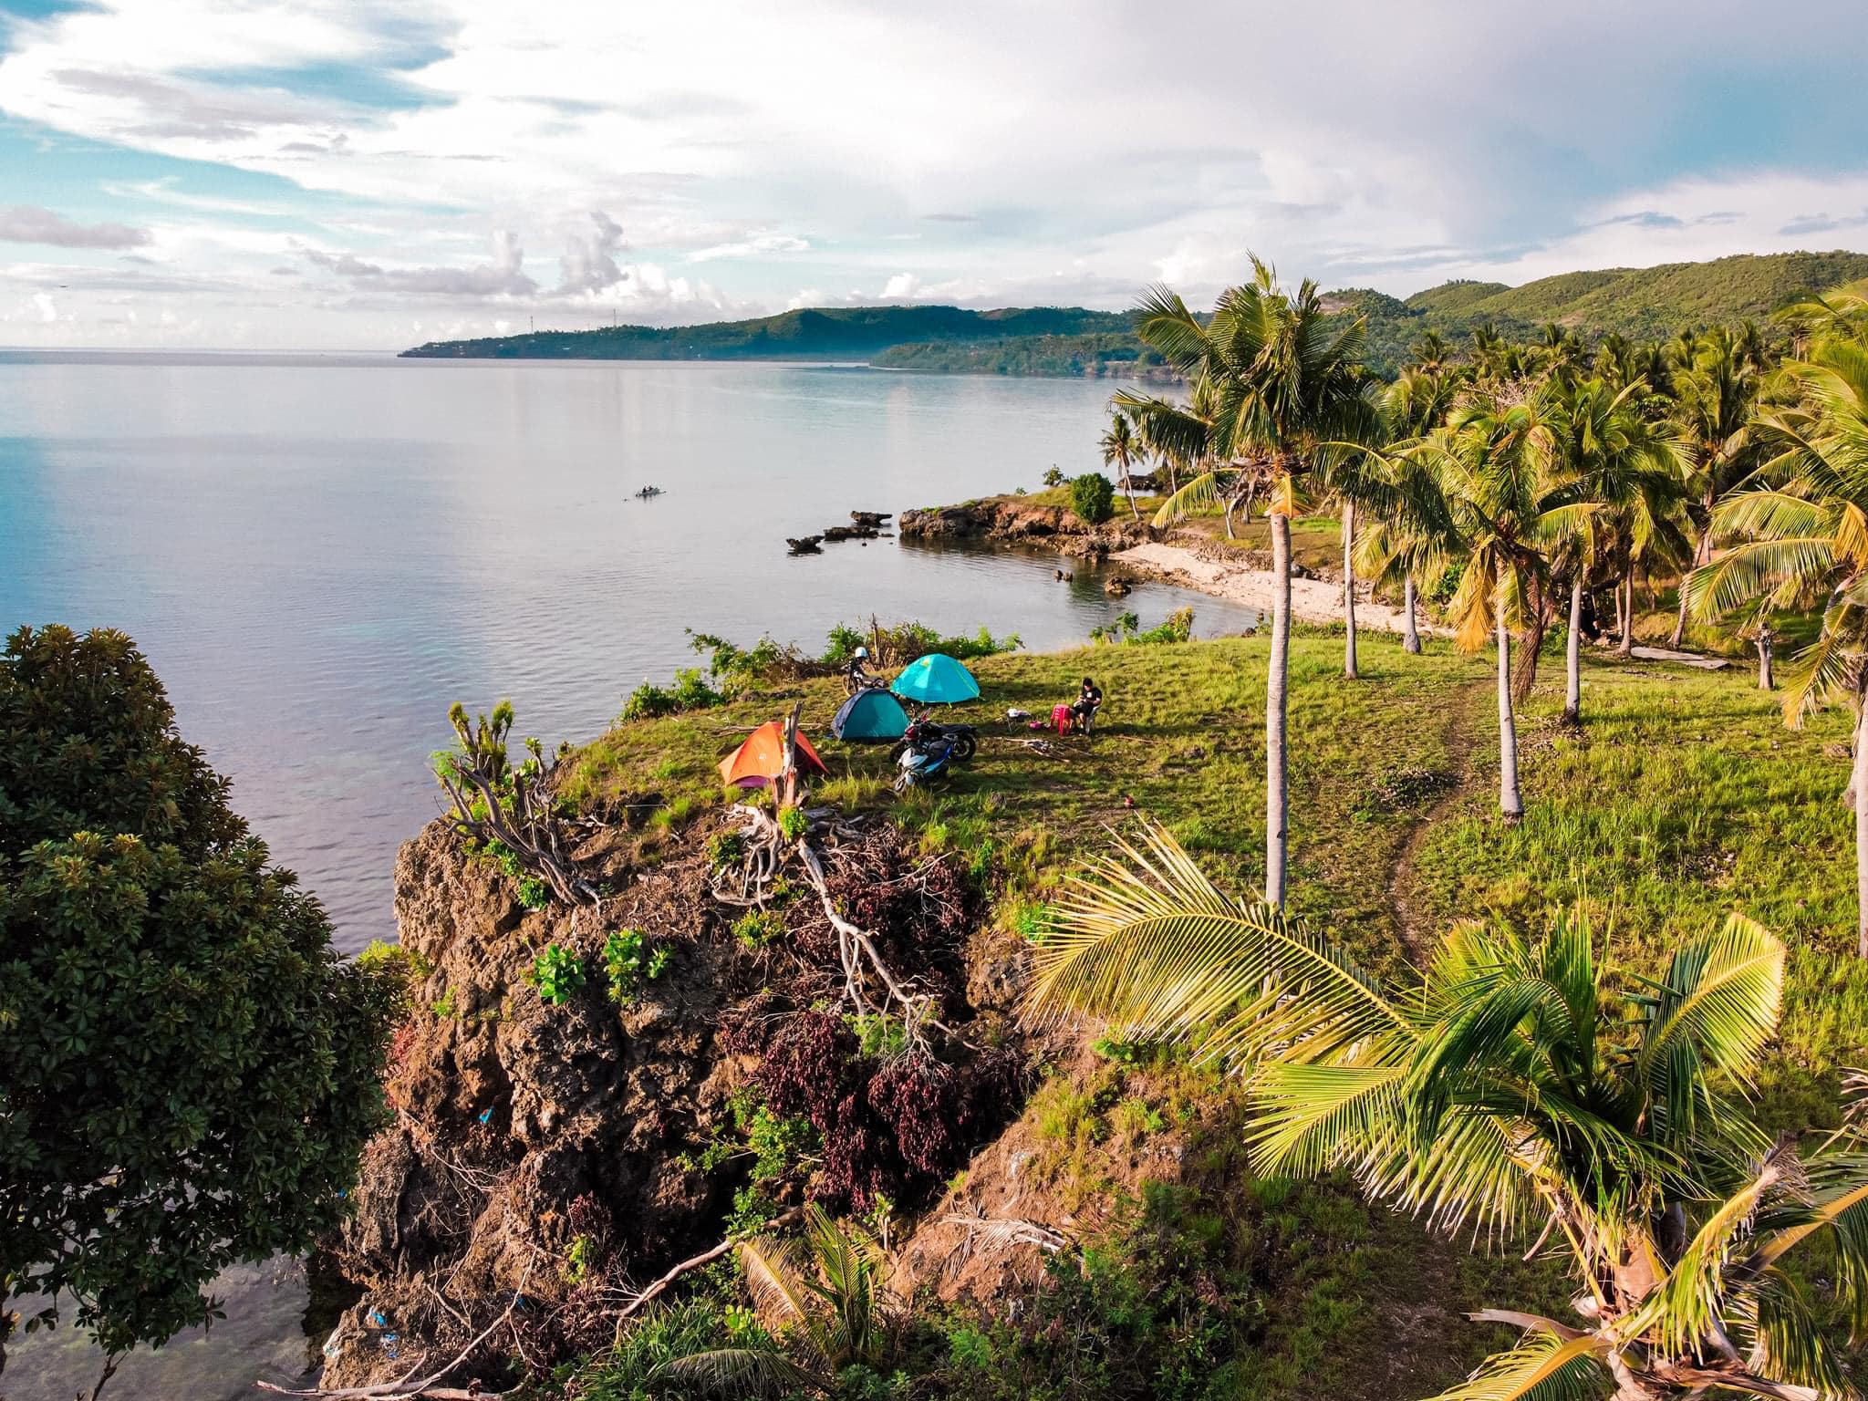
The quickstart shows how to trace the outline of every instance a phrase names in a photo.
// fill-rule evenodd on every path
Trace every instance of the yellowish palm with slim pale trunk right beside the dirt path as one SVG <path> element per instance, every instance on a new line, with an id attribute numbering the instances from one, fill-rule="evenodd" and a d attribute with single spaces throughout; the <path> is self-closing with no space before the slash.
<path id="1" fill-rule="evenodd" d="M 1448 426 L 1408 454 L 1440 484 L 1451 538 L 1465 559 L 1450 611 L 1461 652 L 1498 646 L 1498 811 L 1524 816 L 1511 704 L 1511 633 L 1543 607 L 1550 534 L 1549 489 L 1539 471 L 1545 430 L 1530 403 L 1474 396 Z"/>

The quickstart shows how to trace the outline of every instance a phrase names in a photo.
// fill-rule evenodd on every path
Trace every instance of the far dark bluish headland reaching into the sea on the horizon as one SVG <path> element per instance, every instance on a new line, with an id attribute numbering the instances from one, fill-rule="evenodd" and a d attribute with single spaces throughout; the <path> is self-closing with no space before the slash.
<path id="1" fill-rule="evenodd" d="M 536 331 L 529 336 L 435 340 L 403 355 L 545 361 L 848 361 L 908 342 L 1020 340 L 1026 336 L 1128 334 L 1121 312 L 1031 306 L 968 312 L 958 306 L 828 306 L 753 321 L 598 331 Z"/>

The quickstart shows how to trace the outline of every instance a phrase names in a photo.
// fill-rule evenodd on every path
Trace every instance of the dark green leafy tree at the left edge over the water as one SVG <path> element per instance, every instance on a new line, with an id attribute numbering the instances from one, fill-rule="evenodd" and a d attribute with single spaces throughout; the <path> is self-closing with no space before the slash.
<path id="1" fill-rule="evenodd" d="M 0 654 L 0 1306 L 110 1352 L 333 1227 L 390 983 L 346 966 L 118 631 Z M 7 1328 L 9 1330 L 9 1328 Z M 4 1341 L 4 1332 L 0 1332 Z"/>

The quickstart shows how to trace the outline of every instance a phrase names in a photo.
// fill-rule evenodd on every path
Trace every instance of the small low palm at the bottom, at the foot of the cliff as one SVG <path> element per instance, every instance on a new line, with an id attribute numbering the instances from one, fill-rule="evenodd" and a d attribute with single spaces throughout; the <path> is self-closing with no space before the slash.
<path id="1" fill-rule="evenodd" d="M 811 1203 L 803 1237 L 740 1242 L 760 1315 L 783 1332 L 745 1330 L 730 1347 L 667 1364 L 676 1380 L 732 1395 L 829 1394 L 837 1373 L 882 1360 L 887 1345 L 885 1255 L 863 1227 L 839 1225 Z"/>

